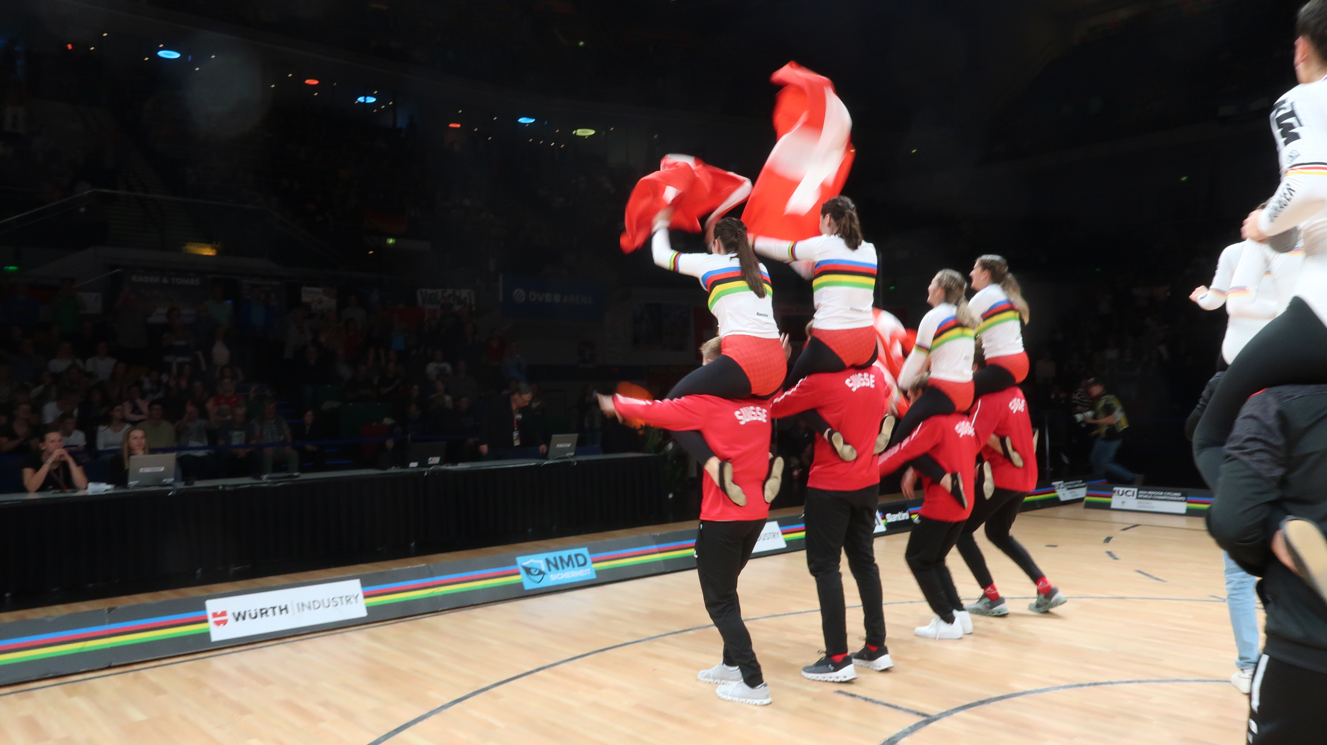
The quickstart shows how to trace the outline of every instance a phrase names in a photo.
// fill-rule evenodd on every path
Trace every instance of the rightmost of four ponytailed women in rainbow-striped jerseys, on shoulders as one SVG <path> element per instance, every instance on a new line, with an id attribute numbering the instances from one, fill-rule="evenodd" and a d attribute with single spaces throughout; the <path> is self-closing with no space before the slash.
<path id="1" fill-rule="evenodd" d="M 1023 324 L 1030 313 L 1022 288 L 1003 256 L 978 256 L 967 276 L 973 278 L 973 290 L 977 291 L 969 308 L 981 319 L 977 336 L 982 339 L 986 355 L 986 367 L 973 374 L 973 398 L 981 398 L 1027 378 Z"/>

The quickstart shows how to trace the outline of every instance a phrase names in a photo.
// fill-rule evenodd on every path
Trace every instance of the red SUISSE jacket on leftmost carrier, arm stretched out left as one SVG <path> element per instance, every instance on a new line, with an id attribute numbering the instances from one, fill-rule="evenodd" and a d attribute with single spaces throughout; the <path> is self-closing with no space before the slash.
<path id="1" fill-rule="evenodd" d="M 613 405 L 624 417 L 650 426 L 678 432 L 698 429 L 714 454 L 733 463 L 733 481 L 746 493 L 746 506 L 734 505 L 719 485 L 702 478 L 702 521 L 758 521 L 770 517 L 770 505 L 764 501 L 764 479 L 770 475 L 768 401 L 718 396 L 641 401 L 613 396 Z"/>

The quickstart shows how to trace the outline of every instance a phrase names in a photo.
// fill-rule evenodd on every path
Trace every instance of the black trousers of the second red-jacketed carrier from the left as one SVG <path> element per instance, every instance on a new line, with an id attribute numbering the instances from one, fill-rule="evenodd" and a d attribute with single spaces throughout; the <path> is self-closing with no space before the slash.
<path id="1" fill-rule="evenodd" d="M 848 570 L 857 580 L 867 644 L 885 645 L 885 608 L 876 564 L 876 506 L 880 485 L 855 491 L 807 489 L 807 570 L 816 578 L 820 596 L 820 629 L 825 655 L 848 653 L 848 623 L 844 614 L 840 554 L 848 555 Z"/>

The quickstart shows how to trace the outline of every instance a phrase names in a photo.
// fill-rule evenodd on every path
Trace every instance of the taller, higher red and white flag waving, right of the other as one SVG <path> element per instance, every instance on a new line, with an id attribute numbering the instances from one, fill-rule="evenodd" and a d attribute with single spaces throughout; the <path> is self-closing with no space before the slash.
<path id="1" fill-rule="evenodd" d="M 837 197 L 856 150 L 852 117 L 829 78 L 788 62 L 770 81 L 783 86 L 774 104 L 779 137 L 742 222 L 751 235 L 802 240 L 820 235 L 820 205 Z"/>

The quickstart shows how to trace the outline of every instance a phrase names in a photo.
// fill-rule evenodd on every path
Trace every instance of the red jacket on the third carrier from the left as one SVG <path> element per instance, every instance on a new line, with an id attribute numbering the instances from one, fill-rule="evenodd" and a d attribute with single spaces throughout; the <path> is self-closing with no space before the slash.
<path id="1" fill-rule="evenodd" d="M 945 487 L 925 475 L 926 497 L 921 503 L 921 517 L 945 522 L 967 519 L 973 511 L 973 477 L 977 462 L 977 436 L 973 422 L 965 414 L 941 414 L 924 420 L 902 442 L 880 454 L 880 475 L 889 475 L 908 461 L 929 454 L 945 473 L 957 473 L 963 479 L 965 509 Z"/>

